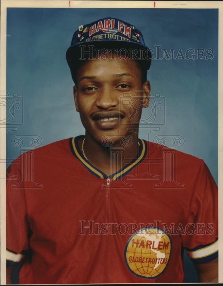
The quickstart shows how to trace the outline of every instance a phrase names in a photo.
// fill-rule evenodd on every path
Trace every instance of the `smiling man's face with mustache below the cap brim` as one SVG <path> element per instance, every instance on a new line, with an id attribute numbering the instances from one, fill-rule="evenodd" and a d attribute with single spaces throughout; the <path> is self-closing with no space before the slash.
<path id="1" fill-rule="evenodd" d="M 105 60 L 86 61 L 78 69 L 77 87 L 74 86 L 75 106 L 86 135 L 97 142 L 104 136 L 118 142 L 138 132 L 142 107 L 148 106 L 149 94 L 150 83 L 142 84 L 136 61 L 122 60 L 117 55 L 111 59 L 110 54 Z"/>

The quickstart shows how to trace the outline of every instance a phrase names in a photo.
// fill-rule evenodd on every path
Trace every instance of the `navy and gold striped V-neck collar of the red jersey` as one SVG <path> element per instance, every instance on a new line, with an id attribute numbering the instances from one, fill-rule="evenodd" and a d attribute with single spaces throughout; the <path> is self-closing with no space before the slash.
<path id="1" fill-rule="evenodd" d="M 102 178 L 102 179 L 107 179 L 108 176 L 103 173 L 101 170 L 99 170 L 98 168 L 96 168 L 95 166 L 93 166 L 88 160 L 86 160 L 78 146 L 77 140 L 78 138 L 82 137 L 83 135 L 79 135 L 77 137 L 71 137 L 69 139 L 69 145 L 70 145 L 70 149 L 72 154 L 85 166 L 85 168 L 87 168 L 87 170 L 89 172 L 91 172 L 91 174 L 93 174 L 94 176 L 98 177 L 98 178 Z M 126 165 L 124 168 L 120 169 L 118 172 L 111 174 L 111 176 L 109 176 L 110 179 L 112 180 L 116 180 L 119 179 L 123 176 L 125 176 L 126 174 L 128 174 L 136 165 L 138 165 L 140 162 L 142 162 L 142 160 L 145 158 L 146 156 L 146 152 L 147 152 L 147 144 L 144 140 L 139 139 L 139 153 L 138 155 L 132 160 L 132 162 L 130 162 L 128 165 Z"/>

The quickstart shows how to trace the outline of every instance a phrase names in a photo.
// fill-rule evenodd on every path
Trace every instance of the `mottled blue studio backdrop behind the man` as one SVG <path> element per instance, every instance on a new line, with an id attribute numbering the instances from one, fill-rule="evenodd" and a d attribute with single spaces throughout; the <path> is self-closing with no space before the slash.
<path id="1" fill-rule="evenodd" d="M 217 9 L 7 8 L 8 164 L 31 148 L 30 138 L 38 138 L 35 148 L 84 134 L 65 52 L 79 25 L 106 16 L 136 26 L 150 48 L 159 45 L 168 53 L 175 49 L 175 57 L 179 49 L 184 54 L 190 48 L 213 49 L 211 60 L 152 61 L 151 95 L 159 95 L 162 109 L 153 124 L 140 128 L 139 137 L 152 141 L 159 136 L 169 147 L 180 138 L 176 148 L 204 159 L 217 183 Z M 157 102 L 156 98 L 151 104 Z M 142 122 L 150 112 L 152 107 L 143 110 Z M 15 140 L 18 135 L 22 144 Z M 184 281 L 196 282 L 186 255 L 184 261 Z"/>

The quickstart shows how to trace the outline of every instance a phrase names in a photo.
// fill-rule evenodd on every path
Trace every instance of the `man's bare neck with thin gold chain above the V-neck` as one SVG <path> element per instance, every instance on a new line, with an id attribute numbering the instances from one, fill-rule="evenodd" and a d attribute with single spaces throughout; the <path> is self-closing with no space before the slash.
<path id="1" fill-rule="evenodd" d="M 86 132 L 83 149 L 87 160 L 107 176 L 114 174 L 129 164 L 138 154 L 138 132 L 133 132 L 129 136 L 132 138 L 132 142 L 128 142 L 129 140 L 126 138 L 126 140 L 114 142 L 112 146 L 107 147 L 104 146 L 105 144 L 95 141 Z M 80 150 L 82 150 L 82 142 L 83 137 L 78 140 Z"/>

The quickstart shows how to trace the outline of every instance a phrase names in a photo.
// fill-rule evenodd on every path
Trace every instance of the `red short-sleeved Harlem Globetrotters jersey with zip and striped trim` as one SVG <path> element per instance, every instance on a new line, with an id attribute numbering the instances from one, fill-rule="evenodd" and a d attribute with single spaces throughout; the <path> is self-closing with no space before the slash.
<path id="1" fill-rule="evenodd" d="M 21 154 L 7 169 L 13 283 L 182 283 L 182 251 L 218 256 L 218 191 L 202 159 L 139 140 L 109 178 L 77 136 Z M 119 159 L 118 159 L 119 160 Z"/>

